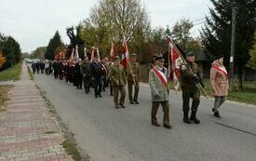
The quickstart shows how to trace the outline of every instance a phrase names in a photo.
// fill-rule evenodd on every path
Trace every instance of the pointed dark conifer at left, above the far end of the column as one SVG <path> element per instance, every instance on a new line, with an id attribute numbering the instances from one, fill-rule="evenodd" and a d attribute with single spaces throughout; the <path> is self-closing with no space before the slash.
<path id="1" fill-rule="evenodd" d="M 45 53 L 46 60 L 54 60 L 54 54 L 57 47 L 63 46 L 61 35 L 57 31 L 54 36 L 49 40 L 47 51 Z"/>

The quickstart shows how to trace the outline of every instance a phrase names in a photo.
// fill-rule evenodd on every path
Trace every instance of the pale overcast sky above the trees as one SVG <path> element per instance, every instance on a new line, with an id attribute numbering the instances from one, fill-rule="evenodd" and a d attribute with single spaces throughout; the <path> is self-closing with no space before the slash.
<path id="1" fill-rule="evenodd" d="M 13 36 L 22 52 L 47 46 L 58 30 L 65 44 L 65 29 L 89 17 L 90 8 L 99 0 L 0 0 L 0 33 Z M 177 20 L 193 20 L 191 33 L 199 35 L 203 18 L 209 15 L 209 0 L 141 0 L 152 26 L 173 26 Z"/>

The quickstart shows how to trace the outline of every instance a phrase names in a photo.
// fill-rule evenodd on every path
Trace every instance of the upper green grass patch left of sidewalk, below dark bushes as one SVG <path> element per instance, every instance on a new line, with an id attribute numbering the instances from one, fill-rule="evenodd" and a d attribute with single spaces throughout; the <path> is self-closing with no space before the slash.
<path id="1" fill-rule="evenodd" d="M 0 72 L 0 82 L 14 80 L 17 81 L 20 79 L 22 63 L 18 63 L 13 67 L 7 68 L 6 70 Z"/>

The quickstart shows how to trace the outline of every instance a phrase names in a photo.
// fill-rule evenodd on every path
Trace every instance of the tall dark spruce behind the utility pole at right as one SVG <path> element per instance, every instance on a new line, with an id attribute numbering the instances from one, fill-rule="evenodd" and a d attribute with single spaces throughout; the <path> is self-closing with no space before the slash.
<path id="1" fill-rule="evenodd" d="M 206 17 L 205 27 L 201 31 L 202 44 L 205 52 L 214 58 L 224 56 L 224 65 L 229 66 L 231 44 L 232 0 L 210 0 L 210 16 Z M 255 0 L 236 0 L 236 53 L 235 64 L 239 87 L 242 87 L 244 67 L 249 60 L 256 17 Z"/>

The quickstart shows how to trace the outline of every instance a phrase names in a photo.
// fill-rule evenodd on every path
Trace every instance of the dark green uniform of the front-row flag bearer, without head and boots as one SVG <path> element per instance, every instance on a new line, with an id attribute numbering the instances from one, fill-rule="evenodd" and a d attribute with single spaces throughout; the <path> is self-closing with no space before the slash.
<path id="1" fill-rule="evenodd" d="M 193 72 L 191 72 L 189 68 L 192 69 Z M 190 110 L 189 101 L 190 101 L 190 98 L 192 98 L 193 101 L 192 101 L 191 111 L 196 113 L 198 105 L 200 103 L 200 88 L 196 84 L 195 76 L 200 78 L 199 77 L 200 70 L 195 62 L 187 62 L 187 64 L 182 63 L 180 67 L 180 73 L 181 73 L 183 112 L 184 113 L 189 112 Z"/>

